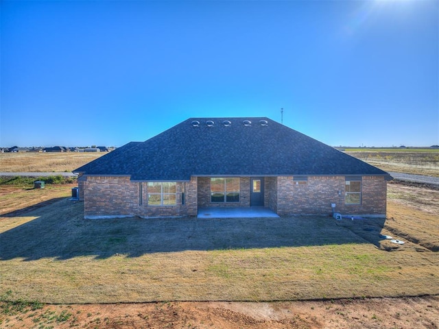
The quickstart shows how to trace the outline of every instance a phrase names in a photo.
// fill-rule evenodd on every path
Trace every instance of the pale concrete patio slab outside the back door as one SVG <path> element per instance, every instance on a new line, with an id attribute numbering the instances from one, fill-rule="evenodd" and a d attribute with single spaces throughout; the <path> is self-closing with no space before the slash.
<path id="1" fill-rule="evenodd" d="M 198 218 L 278 218 L 276 212 L 264 207 L 198 208 Z"/>

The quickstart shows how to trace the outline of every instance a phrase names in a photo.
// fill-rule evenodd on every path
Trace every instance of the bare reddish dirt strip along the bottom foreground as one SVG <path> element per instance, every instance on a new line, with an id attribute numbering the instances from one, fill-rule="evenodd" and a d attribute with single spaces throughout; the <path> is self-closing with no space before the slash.
<path id="1" fill-rule="evenodd" d="M 438 328 L 439 296 L 318 302 L 46 305 L 2 328 Z"/>

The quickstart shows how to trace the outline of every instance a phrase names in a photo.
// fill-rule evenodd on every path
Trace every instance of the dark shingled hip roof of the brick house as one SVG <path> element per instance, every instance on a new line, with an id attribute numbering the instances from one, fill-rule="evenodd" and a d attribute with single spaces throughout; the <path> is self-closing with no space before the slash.
<path id="1" fill-rule="evenodd" d="M 251 125 L 244 125 L 245 120 Z M 193 121 L 200 125 L 194 126 Z M 207 121 L 213 125 L 206 125 Z M 266 125 L 261 124 L 264 121 Z M 156 181 L 189 180 L 191 175 L 387 174 L 265 117 L 187 119 L 145 142 L 119 147 L 74 172 Z"/>

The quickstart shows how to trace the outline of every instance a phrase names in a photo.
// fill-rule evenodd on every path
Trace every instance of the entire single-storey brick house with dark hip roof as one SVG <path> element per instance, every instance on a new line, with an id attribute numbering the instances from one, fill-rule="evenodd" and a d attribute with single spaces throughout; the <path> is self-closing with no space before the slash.
<path id="1" fill-rule="evenodd" d="M 85 218 L 198 208 L 385 217 L 390 175 L 265 117 L 191 118 L 73 171 Z M 335 204 L 335 209 L 332 208 Z"/>

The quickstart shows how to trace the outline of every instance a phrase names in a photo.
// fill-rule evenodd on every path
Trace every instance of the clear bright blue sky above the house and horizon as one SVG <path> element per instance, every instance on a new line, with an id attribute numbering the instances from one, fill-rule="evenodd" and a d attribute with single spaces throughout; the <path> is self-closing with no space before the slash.
<path id="1" fill-rule="evenodd" d="M 270 117 L 329 145 L 439 144 L 439 1 L 1 1 L 0 146 Z"/>

